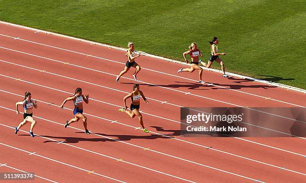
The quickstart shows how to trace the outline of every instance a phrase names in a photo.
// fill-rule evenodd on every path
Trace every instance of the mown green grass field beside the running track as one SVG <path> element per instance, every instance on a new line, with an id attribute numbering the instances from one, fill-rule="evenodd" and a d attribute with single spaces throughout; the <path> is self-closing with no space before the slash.
<path id="1" fill-rule="evenodd" d="M 176 60 L 217 36 L 227 71 L 306 89 L 305 0 L 0 0 L 0 19 Z"/>

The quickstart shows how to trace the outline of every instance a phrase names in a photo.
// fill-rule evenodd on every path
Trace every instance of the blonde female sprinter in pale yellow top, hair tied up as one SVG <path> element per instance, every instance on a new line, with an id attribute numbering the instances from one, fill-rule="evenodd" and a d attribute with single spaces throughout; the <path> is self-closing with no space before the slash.
<path id="1" fill-rule="evenodd" d="M 139 54 L 135 54 L 135 50 L 134 50 L 134 43 L 132 42 L 128 42 L 127 44 L 128 49 L 126 50 L 126 56 L 127 56 L 127 61 L 125 63 L 125 67 L 124 70 L 122 70 L 120 72 L 120 74 L 116 77 L 116 82 L 119 81 L 120 77 L 125 74 L 130 67 L 134 67 L 136 68 L 134 74 L 132 75 L 134 77 L 134 79 L 136 80 L 136 74 L 140 71 L 140 66 L 135 62 L 135 58 L 138 58 L 139 56 L 141 56 L 141 53 Z"/>

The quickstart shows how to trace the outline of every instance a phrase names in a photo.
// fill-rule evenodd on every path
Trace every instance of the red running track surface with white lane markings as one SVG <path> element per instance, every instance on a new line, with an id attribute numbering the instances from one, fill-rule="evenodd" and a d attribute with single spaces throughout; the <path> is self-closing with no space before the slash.
<path id="1" fill-rule="evenodd" d="M 145 134 L 135 129 L 137 119 L 117 112 L 135 83 L 132 69 L 115 82 L 124 67 L 123 51 L 5 24 L 0 34 L 0 164 L 60 183 L 305 182 L 305 139 L 186 138 L 179 136 L 178 123 L 179 106 L 296 107 L 305 104 L 302 93 L 210 71 L 203 79 L 215 86 L 200 85 L 192 81 L 197 73 L 177 77 L 179 64 L 142 56 L 136 61 L 142 67 L 137 83 L 149 98 L 140 106 L 151 132 Z M 76 87 L 94 99 L 84 105 L 94 134 L 85 135 L 80 122 L 63 128 L 73 105 L 58 106 Z M 14 105 L 25 91 L 39 101 L 33 114 L 40 137 L 28 136 L 29 125 L 13 134 L 22 119 Z M 1 166 L 0 172 L 18 171 Z"/>

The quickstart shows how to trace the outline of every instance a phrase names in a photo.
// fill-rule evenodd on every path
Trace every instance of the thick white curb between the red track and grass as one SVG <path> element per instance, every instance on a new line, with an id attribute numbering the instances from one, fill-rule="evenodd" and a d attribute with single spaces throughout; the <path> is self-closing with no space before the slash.
<path id="1" fill-rule="evenodd" d="M 89 40 L 86 40 L 86 39 L 81 39 L 81 38 L 76 38 L 76 37 L 72 37 L 72 36 L 68 36 L 68 35 L 63 35 L 63 34 L 59 34 L 59 33 L 54 33 L 54 32 L 49 32 L 49 31 L 40 30 L 40 29 L 36 29 L 36 28 L 26 27 L 26 26 L 14 24 L 14 23 L 9 23 L 9 22 L 5 22 L 5 21 L 0 21 L 0 23 L 11 25 L 11 26 L 16 26 L 16 27 L 20 27 L 20 28 L 25 28 L 25 29 L 29 29 L 29 30 L 33 30 L 35 32 L 43 32 L 43 33 L 47 33 L 47 34 L 53 34 L 53 35 L 57 35 L 57 36 L 60 36 L 60 37 L 66 37 L 66 38 L 69 38 L 69 39 L 74 39 L 74 40 L 78 40 L 78 41 L 88 42 L 90 44 L 96 44 L 96 45 L 105 46 L 105 47 L 108 47 L 108 48 L 114 48 L 114 49 L 126 51 L 126 48 L 121 48 L 121 47 L 112 46 L 112 45 L 108 45 L 108 44 L 103 44 L 103 43 L 98 43 L 98 42 L 94 42 L 94 41 L 89 41 Z M 142 51 L 137 51 L 137 52 L 140 52 L 141 54 L 143 54 L 145 56 L 149 56 L 149 57 L 153 57 L 153 58 L 158 58 L 158 59 L 161 59 L 161 60 L 166 60 L 168 62 L 174 62 L 174 63 L 183 64 L 183 65 L 189 65 L 189 64 L 187 64 L 185 62 L 181 62 L 181 61 L 177 61 L 177 60 L 173 60 L 173 59 L 169 59 L 169 58 L 165 58 L 165 57 L 161 57 L 161 56 L 156 56 L 156 55 L 148 54 L 148 53 L 145 53 L 145 52 L 142 52 Z M 206 70 L 222 73 L 222 71 L 217 70 L 217 69 L 211 69 L 211 68 L 208 69 L 208 68 L 203 67 L 203 66 L 201 66 L 201 67 L 203 69 L 206 69 Z M 242 79 L 248 79 L 248 80 L 264 83 L 264 84 L 267 84 L 267 85 L 277 86 L 277 87 L 280 87 L 280 88 L 285 88 L 285 89 L 289 89 L 289 90 L 293 90 L 293 91 L 297 91 L 297 92 L 302 92 L 302 93 L 306 94 L 306 90 L 303 90 L 301 88 L 296 88 L 296 87 L 293 87 L 293 86 L 288 86 L 288 85 L 279 84 L 279 83 L 273 83 L 273 82 L 270 82 L 270 81 L 256 79 L 256 78 L 252 78 L 252 77 L 248 77 L 248 76 L 243 76 L 243 75 L 235 74 L 235 73 L 231 73 L 231 72 L 226 72 L 226 74 L 228 74 L 230 76 L 235 76 L 235 77 L 239 77 L 239 78 L 242 78 Z"/>

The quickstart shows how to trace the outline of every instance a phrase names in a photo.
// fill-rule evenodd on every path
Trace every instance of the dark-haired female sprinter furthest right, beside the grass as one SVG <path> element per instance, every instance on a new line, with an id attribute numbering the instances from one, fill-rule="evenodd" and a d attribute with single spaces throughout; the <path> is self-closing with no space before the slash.
<path id="1" fill-rule="evenodd" d="M 226 55 L 226 53 L 217 53 L 218 52 L 218 43 L 219 43 L 217 37 L 213 37 L 212 41 L 209 41 L 209 43 L 210 43 L 211 55 L 209 57 L 208 63 L 207 64 L 204 63 L 204 62 L 200 62 L 200 63 L 203 64 L 205 67 L 210 68 L 213 60 L 215 60 L 216 62 L 221 64 L 221 69 L 223 71 L 222 77 L 227 77 L 228 75 L 225 74 L 224 62 L 221 60 L 221 58 L 219 58 L 219 55 Z"/>

